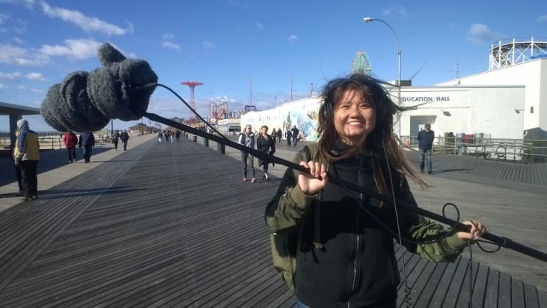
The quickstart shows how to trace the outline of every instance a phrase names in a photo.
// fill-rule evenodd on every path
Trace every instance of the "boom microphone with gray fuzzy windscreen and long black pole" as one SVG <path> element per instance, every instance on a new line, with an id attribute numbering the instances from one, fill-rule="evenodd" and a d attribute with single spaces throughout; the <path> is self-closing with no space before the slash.
<path id="1" fill-rule="evenodd" d="M 49 89 L 46 98 L 41 105 L 43 119 L 56 130 L 75 130 L 77 132 L 100 130 L 113 118 L 120 120 L 139 120 L 143 116 L 179 128 L 188 133 L 199 135 L 203 138 L 228 145 L 236 150 L 249 153 L 257 158 L 267 160 L 271 163 L 284 165 L 293 170 L 307 173 L 308 170 L 297 163 L 278 158 L 273 155 L 259 152 L 254 148 L 248 148 L 224 137 L 217 130 L 212 128 L 218 135 L 206 133 L 202 130 L 192 128 L 182 123 L 162 118 L 153 113 L 147 113 L 150 96 L 157 86 L 167 88 L 174 93 L 182 102 L 187 104 L 177 93 L 167 86 L 157 83 L 157 75 L 152 71 L 147 61 L 139 59 L 127 59 L 120 51 L 108 43 L 98 49 L 98 56 L 103 67 L 87 73 L 76 71 L 69 74 L 61 83 L 57 83 Z M 187 104 L 188 106 L 188 104 Z M 188 106 L 196 113 L 190 106 Z M 196 113 L 197 116 L 199 114 Z M 199 116 L 199 118 L 201 118 Z M 202 118 L 201 118 L 202 119 Z M 203 120 L 203 119 L 202 119 Z M 415 212 L 425 217 L 432 218 L 444 224 L 450 225 L 457 230 L 469 232 L 470 227 L 447 217 L 437 215 L 433 212 L 423 210 L 420 207 L 407 203 L 403 200 L 394 200 L 392 197 L 362 188 L 353 183 L 340 180 L 335 175 L 329 174 L 330 182 L 338 183 L 344 187 L 363 193 L 378 200 L 385 201 L 402 210 Z M 531 247 L 526 247 L 513 242 L 507 237 L 486 233 L 483 235 L 486 240 L 496 243 L 524 255 L 535 257 L 538 260 L 547 262 L 547 254 Z"/>

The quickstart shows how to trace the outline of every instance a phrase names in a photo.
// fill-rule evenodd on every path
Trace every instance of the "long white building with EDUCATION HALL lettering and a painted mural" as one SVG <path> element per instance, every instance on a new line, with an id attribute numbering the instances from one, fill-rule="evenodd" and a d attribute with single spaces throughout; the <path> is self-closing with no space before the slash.
<path id="1" fill-rule="evenodd" d="M 394 101 L 397 91 L 390 89 Z M 547 130 L 547 42 L 499 42 L 491 46 L 490 69 L 484 73 L 429 87 L 402 87 L 401 114 L 395 134 L 416 136 L 425 123 L 435 135 L 483 133 L 491 138 L 523 138 L 524 130 Z M 296 125 L 316 140 L 321 100 L 305 98 L 267 111 L 241 116 L 241 125 L 284 128 Z"/>

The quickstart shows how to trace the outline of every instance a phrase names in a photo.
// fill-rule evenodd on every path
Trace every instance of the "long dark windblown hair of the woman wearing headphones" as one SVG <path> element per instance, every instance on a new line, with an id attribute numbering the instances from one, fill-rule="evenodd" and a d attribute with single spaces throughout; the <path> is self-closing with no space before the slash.
<path id="1" fill-rule="evenodd" d="M 319 154 L 330 163 L 359 155 L 368 151 L 373 157 L 373 177 L 380 193 L 391 195 L 387 186 L 390 175 L 387 173 L 388 162 L 392 170 L 392 182 L 398 187 L 402 177 L 406 176 L 422 188 L 429 187 L 418 173 L 414 165 L 402 152 L 393 135 L 393 116 L 402 109 L 390 98 L 389 93 L 382 87 L 388 85 L 383 81 L 363 74 L 353 74 L 345 78 L 335 78 L 323 88 L 323 103 L 319 108 L 318 142 Z M 347 91 L 355 91 L 375 109 L 376 125 L 374 130 L 355 145 L 340 151 L 334 148 L 335 141 L 340 138 L 334 125 L 334 109 Z"/>

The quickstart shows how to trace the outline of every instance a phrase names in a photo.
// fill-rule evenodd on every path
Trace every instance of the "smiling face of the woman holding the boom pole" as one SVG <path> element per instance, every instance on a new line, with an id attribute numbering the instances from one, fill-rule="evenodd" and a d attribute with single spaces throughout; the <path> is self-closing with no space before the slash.
<path id="1" fill-rule="evenodd" d="M 334 128 L 344 143 L 357 145 L 376 126 L 376 111 L 355 90 L 348 90 L 334 106 Z"/>

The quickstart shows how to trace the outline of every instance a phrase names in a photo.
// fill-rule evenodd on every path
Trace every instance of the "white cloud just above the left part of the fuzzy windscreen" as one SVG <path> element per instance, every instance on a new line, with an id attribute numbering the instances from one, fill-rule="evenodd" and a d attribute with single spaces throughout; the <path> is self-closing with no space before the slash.
<path id="1" fill-rule="evenodd" d="M 66 56 L 67 58 L 86 59 L 97 57 L 97 49 L 101 45 L 102 43 L 91 39 L 67 39 L 65 40 L 65 46 L 43 45 L 40 51 L 46 56 Z"/>

